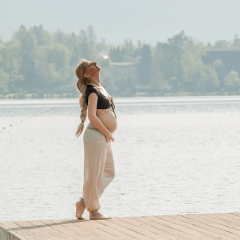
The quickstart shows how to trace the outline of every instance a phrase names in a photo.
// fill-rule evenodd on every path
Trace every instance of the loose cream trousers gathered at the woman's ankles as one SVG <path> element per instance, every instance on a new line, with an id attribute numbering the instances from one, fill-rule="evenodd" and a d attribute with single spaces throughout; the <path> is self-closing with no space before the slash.
<path id="1" fill-rule="evenodd" d="M 83 135 L 84 184 L 83 199 L 86 209 L 100 209 L 99 199 L 115 177 L 111 142 L 90 122 Z"/>

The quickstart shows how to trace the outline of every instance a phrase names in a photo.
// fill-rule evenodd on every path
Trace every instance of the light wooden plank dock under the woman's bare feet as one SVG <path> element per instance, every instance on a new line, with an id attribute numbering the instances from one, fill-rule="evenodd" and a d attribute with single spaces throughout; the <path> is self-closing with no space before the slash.
<path id="1" fill-rule="evenodd" d="M 238 239 L 240 213 L 119 217 L 0 223 L 0 240 L 73 239 Z"/>

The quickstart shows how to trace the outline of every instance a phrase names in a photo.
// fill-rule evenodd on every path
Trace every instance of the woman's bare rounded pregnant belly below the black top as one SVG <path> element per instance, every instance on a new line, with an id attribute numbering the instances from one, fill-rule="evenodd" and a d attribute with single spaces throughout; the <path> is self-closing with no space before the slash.
<path id="1" fill-rule="evenodd" d="M 97 117 L 102 124 L 111 132 L 114 133 L 117 129 L 117 118 L 115 117 L 111 108 L 97 109 Z"/>

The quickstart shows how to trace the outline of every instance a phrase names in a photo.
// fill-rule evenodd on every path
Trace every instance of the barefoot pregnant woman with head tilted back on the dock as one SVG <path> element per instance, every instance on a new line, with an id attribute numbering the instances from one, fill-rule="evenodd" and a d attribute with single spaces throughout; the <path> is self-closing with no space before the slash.
<path id="1" fill-rule="evenodd" d="M 83 220 L 84 210 L 89 211 L 90 220 L 107 219 L 99 212 L 99 199 L 104 189 L 115 177 L 111 141 L 117 129 L 113 98 L 100 81 L 101 67 L 96 62 L 83 60 L 76 68 L 77 88 L 82 93 L 81 108 L 76 136 L 79 137 L 88 115 L 89 124 L 83 135 L 84 184 L 83 197 L 76 202 L 76 218 Z"/>

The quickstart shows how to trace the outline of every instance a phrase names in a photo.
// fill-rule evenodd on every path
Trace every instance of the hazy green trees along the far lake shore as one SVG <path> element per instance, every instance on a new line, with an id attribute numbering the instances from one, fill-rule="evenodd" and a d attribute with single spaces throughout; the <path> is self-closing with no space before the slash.
<path id="1" fill-rule="evenodd" d="M 227 72 L 221 59 L 211 64 L 202 61 L 209 49 L 232 47 L 240 47 L 238 35 L 230 42 L 206 45 L 181 31 L 155 46 L 141 41 L 134 45 L 131 40 L 116 45 L 97 41 L 92 26 L 77 35 L 22 25 L 11 40 L 0 38 L 0 93 L 76 92 L 75 68 L 83 58 L 98 62 L 103 69 L 101 80 L 113 95 L 124 96 L 128 88 L 130 95 L 237 92 L 238 72 Z M 137 81 L 116 83 L 111 75 L 113 62 L 136 62 Z"/>

